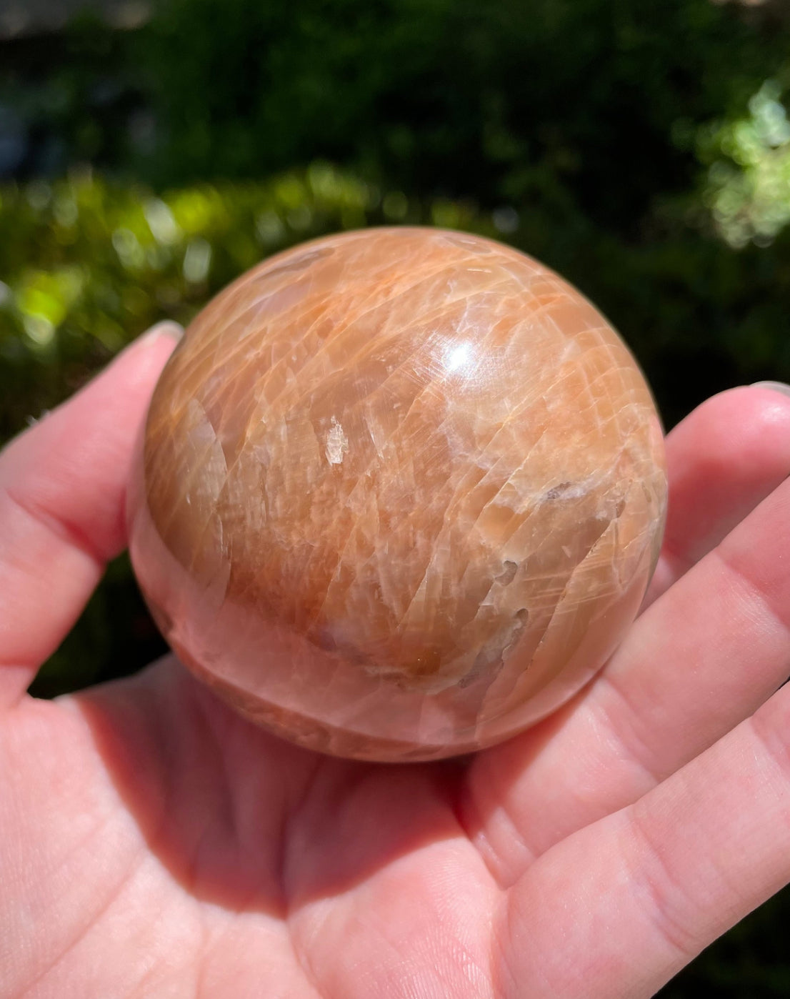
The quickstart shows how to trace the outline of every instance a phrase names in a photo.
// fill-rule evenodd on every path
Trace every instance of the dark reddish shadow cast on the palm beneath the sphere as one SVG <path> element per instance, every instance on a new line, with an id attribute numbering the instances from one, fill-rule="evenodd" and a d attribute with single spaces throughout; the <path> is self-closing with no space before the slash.
<path id="1" fill-rule="evenodd" d="M 171 657 L 80 705 L 151 851 L 197 900 L 285 916 L 465 836 L 466 761 L 321 756 L 238 716 Z"/>

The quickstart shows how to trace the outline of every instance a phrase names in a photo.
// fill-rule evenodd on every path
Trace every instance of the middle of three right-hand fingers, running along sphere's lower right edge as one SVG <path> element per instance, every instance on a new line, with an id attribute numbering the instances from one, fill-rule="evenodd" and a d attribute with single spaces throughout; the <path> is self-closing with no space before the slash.
<path id="1" fill-rule="evenodd" d="M 573 704 L 475 759 L 470 829 L 500 881 L 636 800 L 784 681 L 789 523 L 790 480 L 637 618 Z"/>

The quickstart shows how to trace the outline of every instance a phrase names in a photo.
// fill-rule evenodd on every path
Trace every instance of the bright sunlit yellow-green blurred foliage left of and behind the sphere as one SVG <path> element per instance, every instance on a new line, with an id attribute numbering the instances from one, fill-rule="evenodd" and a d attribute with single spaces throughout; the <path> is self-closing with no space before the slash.
<path id="1" fill-rule="evenodd" d="M 265 183 L 155 194 L 90 172 L 0 189 L 0 437 L 53 406 L 157 320 L 186 323 L 263 256 L 343 228 L 412 222 L 495 235 L 326 164 Z"/>

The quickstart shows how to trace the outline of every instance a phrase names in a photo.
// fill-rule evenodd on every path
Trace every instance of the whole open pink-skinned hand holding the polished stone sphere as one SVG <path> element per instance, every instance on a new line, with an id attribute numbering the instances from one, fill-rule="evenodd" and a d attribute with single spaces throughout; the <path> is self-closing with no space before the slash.
<path id="1" fill-rule="evenodd" d="M 637 999 L 790 880 L 790 398 L 765 388 L 669 436 L 646 609 L 503 745 L 319 757 L 172 657 L 29 697 L 124 547 L 174 333 L 0 456 L 3 999 Z"/>

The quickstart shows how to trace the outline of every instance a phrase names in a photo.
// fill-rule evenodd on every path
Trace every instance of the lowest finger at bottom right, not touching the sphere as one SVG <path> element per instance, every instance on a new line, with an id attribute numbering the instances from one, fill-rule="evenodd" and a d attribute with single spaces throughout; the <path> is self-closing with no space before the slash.
<path id="1" fill-rule="evenodd" d="M 544 854 L 509 892 L 501 994 L 652 996 L 790 881 L 788 732 L 785 687 L 636 804 Z"/>

